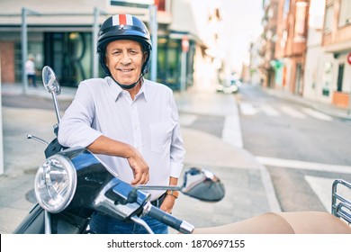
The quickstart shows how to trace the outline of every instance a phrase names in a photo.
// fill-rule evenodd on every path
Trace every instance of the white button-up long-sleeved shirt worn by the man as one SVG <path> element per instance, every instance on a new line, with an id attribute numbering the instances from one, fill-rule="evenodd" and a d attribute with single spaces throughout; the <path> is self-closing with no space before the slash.
<path id="1" fill-rule="evenodd" d="M 172 90 L 144 80 L 139 93 L 130 94 L 110 77 L 80 83 L 58 130 L 58 141 L 66 147 L 87 147 L 104 135 L 132 145 L 149 166 L 152 185 L 168 185 L 169 176 L 179 177 L 184 165 L 184 144 Z M 122 181 L 133 179 L 128 160 L 96 155 Z M 151 199 L 163 192 L 150 191 Z"/>

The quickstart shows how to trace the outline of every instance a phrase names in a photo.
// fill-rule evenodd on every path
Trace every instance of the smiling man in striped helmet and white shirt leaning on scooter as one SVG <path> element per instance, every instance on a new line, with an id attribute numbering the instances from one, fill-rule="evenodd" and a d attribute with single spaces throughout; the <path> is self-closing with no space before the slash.
<path id="1" fill-rule="evenodd" d="M 58 130 L 66 147 L 85 147 L 113 175 L 132 185 L 176 185 L 184 163 L 184 143 L 172 90 L 144 78 L 152 45 L 136 16 L 117 14 L 104 21 L 97 52 L 104 78 L 82 81 Z M 178 193 L 149 191 L 151 203 L 171 213 Z M 167 226 L 142 217 L 155 233 Z M 95 212 L 96 233 L 147 233 L 139 224 Z"/>

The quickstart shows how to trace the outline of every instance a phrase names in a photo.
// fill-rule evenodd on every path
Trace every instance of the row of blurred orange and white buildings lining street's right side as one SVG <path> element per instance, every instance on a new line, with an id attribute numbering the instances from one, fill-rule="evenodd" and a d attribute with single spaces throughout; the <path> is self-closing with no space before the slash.
<path id="1" fill-rule="evenodd" d="M 266 20 L 262 38 L 275 31 L 275 49 L 263 40 L 267 86 L 311 100 L 351 108 L 351 1 L 279 0 L 275 30 Z M 263 8 L 274 4 L 264 0 Z M 269 16 L 269 9 L 266 16 Z M 270 23 L 274 23 L 271 21 Z M 269 58 L 267 55 L 274 56 Z M 274 70 L 268 71 L 268 60 Z M 272 84 L 272 76 L 275 82 Z"/>

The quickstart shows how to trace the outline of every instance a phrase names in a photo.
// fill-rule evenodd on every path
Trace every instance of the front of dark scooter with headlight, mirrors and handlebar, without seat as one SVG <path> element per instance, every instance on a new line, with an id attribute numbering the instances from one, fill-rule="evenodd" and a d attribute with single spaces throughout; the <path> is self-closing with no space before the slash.
<path id="1" fill-rule="evenodd" d="M 58 78 L 48 66 L 42 69 L 45 89 L 51 94 L 58 123 L 54 125 L 56 138 L 50 143 L 28 135 L 47 145 L 46 160 L 39 167 L 34 181 L 37 204 L 31 209 L 16 234 L 84 234 L 94 233 L 89 221 L 98 211 L 118 220 L 129 220 L 153 230 L 140 217 L 151 216 L 181 233 L 192 233 L 193 225 L 161 211 L 149 201 L 146 190 L 176 190 L 205 202 L 218 202 L 225 194 L 220 179 L 206 169 L 190 168 L 184 173 L 181 186 L 131 186 L 110 173 L 86 148 L 63 148 L 57 139 L 60 114 Z"/>

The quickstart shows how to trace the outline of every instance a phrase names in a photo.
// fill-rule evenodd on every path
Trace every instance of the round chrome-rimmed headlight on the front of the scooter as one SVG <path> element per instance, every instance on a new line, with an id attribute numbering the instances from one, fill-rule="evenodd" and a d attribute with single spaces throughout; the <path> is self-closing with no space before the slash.
<path id="1" fill-rule="evenodd" d="M 34 190 L 43 209 L 51 213 L 63 211 L 76 192 L 75 166 L 67 157 L 49 157 L 38 169 Z"/>

